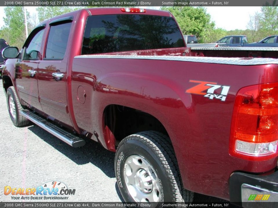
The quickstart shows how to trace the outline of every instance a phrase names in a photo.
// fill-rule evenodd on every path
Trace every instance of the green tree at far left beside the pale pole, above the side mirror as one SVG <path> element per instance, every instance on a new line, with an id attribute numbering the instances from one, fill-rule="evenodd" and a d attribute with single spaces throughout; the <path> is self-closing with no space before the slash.
<path id="1" fill-rule="evenodd" d="M 0 34 L 10 45 L 21 48 L 25 42 L 25 20 L 23 7 L 6 7 L 4 8 L 5 16 L 3 18 L 4 26 L 1 28 Z M 27 19 L 30 18 L 29 12 L 26 12 Z M 30 23 L 28 22 L 30 27 Z"/>

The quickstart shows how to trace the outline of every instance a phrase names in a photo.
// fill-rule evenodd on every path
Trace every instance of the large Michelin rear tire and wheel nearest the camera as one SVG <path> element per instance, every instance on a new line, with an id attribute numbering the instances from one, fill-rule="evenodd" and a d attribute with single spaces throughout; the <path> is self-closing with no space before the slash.
<path id="1" fill-rule="evenodd" d="M 151 199 L 156 199 L 158 200 L 157 202 L 184 203 L 193 201 L 194 193 L 183 188 L 178 163 L 173 147 L 169 141 L 169 137 L 159 132 L 144 131 L 127 136 L 120 142 L 115 156 L 115 173 L 118 187 L 126 202 L 140 200 L 140 198 L 134 197 L 133 188 L 138 192 L 138 196 L 141 195 L 140 191 L 146 196 L 146 192 L 149 194 L 148 191 L 152 190 L 151 194 L 155 193 L 158 198 Z M 139 163 L 136 159 L 138 159 Z M 133 165 L 132 161 L 136 161 L 135 165 Z M 155 190 L 155 188 L 158 187 L 155 184 L 156 180 L 150 180 L 147 184 L 145 183 L 144 177 L 146 177 L 146 173 L 144 177 L 140 177 L 140 174 L 144 172 L 147 172 L 147 177 L 152 174 L 150 173 L 151 171 L 147 171 L 149 170 L 148 168 L 137 168 L 136 163 L 140 166 L 140 162 L 144 164 L 144 166 L 146 162 L 149 163 L 155 175 L 155 177 L 151 177 L 151 179 L 158 178 L 159 190 Z M 136 176 L 134 176 L 134 181 L 133 174 L 135 173 L 133 173 L 134 170 L 132 170 L 132 167 L 134 167 L 135 172 L 137 171 Z M 127 179 L 130 173 L 132 180 Z M 139 177 L 137 178 L 138 175 Z M 143 185 L 140 181 L 144 182 L 142 183 Z M 149 184 L 152 184 L 151 187 L 153 187 L 153 189 L 149 188 Z M 144 190 L 142 190 L 143 188 Z M 145 200 L 145 198 L 143 200 Z M 147 198 L 147 201 L 148 200 L 149 198 Z M 149 200 L 149 202 L 152 201 Z"/>

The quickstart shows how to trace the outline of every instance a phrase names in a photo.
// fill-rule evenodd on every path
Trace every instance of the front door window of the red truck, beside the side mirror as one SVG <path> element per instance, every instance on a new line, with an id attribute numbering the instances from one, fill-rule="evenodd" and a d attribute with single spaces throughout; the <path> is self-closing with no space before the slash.
<path id="1" fill-rule="evenodd" d="M 43 30 L 40 30 L 30 41 L 27 48 L 25 48 L 25 53 L 23 59 L 37 59 L 39 52 L 41 51 L 41 42 L 43 39 Z"/>

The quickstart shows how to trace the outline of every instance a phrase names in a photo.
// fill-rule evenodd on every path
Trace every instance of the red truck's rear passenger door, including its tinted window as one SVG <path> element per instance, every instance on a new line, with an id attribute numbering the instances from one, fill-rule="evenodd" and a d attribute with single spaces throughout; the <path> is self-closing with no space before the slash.
<path id="1" fill-rule="evenodd" d="M 39 63 L 38 86 L 43 112 L 72 126 L 67 106 L 68 39 L 73 17 L 50 23 L 43 60 Z"/>

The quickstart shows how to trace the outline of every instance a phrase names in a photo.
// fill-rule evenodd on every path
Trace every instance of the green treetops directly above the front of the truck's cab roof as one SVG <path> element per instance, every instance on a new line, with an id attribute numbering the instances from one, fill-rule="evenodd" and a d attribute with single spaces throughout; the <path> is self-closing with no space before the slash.
<path id="1" fill-rule="evenodd" d="M 74 10 L 81 9 L 80 7 L 70 7 L 70 6 L 47 6 L 47 7 L 38 7 L 36 11 L 38 12 L 39 21 L 42 22 L 49 18 L 65 14 L 67 12 L 72 12 Z"/>

